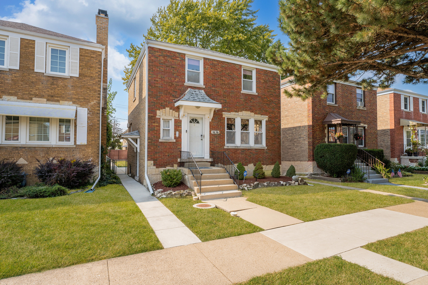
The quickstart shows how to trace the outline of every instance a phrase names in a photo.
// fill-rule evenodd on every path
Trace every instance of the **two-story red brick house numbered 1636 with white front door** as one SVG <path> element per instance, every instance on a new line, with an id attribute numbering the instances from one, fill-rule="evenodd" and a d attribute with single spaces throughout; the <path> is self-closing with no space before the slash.
<path id="1" fill-rule="evenodd" d="M 201 169 L 212 180 L 202 192 L 237 191 L 213 166 L 213 151 L 241 162 L 248 175 L 257 162 L 271 169 L 280 161 L 279 82 L 273 65 L 146 40 L 127 85 L 129 173 L 151 190 L 160 170 L 180 166 L 183 151 L 210 167 Z M 193 176 L 183 179 L 193 187 Z"/>

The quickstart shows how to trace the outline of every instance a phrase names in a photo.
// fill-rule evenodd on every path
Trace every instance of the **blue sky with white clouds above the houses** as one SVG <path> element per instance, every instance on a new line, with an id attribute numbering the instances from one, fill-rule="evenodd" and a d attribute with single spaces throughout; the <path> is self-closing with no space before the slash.
<path id="1" fill-rule="evenodd" d="M 128 64 L 126 48 L 132 43 L 143 41 L 143 34 L 150 26 L 150 17 L 169 0 L 6 0 L 0 2 L 0 19 L 16 21 L 43 29 L 52 30 L 77 38 L 95 42 L 95 14 L 98 8 L 109 14 L 108 76 L 113 79 L 113 91 L 117 96 L 113 102 L 116 117 L 121 118 L 126 128 L 128 118 L 128 95 L 123 89 L 121 77 Z M 257 13 L 257 24 L 268 24 L 277 34 L 276 39 L 287 43 L 288 37 L 277 27 L 277 0 L 255 0 L 253 9 Z M 402 77 L 402 76 L 401 76 Z M 400 77 L 392 87 L 426 94 L 426 85 L 404 85 Z"/>

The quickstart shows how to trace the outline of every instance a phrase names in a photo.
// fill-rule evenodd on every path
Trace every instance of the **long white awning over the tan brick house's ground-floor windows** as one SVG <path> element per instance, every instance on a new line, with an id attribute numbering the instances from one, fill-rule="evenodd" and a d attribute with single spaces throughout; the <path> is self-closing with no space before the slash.
<path id="1" fill-rule="evenodd" d="M 76 106 L 0 101 L 0 115 L 74 119 Z"/>

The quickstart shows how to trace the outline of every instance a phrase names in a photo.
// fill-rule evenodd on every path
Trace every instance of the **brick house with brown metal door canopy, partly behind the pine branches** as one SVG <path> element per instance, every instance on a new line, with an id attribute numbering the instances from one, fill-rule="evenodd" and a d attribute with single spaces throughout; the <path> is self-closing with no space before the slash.
<path id="1" fill-rule="evenodd" d="M 281 81 L 281 160 L 284 173 L 294 165 L 297 173 L 322 173 L 315 162 L 318 144 L 337 143 L 335 134 L 342 131 L 342 143 L 362 148 L 377 148 L 376 88 L 363 91 L 357 82 L 335 82 L 328 86 L 328 96 L 319 94 L 302 101 L 287 98 L 284 89 L 295 86 L 292 77 Z M 363 140 L 355 141 L 359 132 Z"/>

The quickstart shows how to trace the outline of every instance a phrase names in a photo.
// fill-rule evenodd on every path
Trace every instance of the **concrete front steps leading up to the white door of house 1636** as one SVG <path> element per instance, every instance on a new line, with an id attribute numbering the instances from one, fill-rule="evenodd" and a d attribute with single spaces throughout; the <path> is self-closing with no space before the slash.
<path id="1" fill-rule="evenodd" d="M 202 168 L 201 189 L 195 181 L 190 169 L 180 167 L 181 171 L 187 175 L 187 181 L 190 188 L 192 188 L 199 200 L 222 199 L 230 197 L 240 197 L 242 192 L 238 190 L 238 186 L 230 179 L 226 169 L 223 167 L 210 166 L 209 162 L 196 162 Z"/>

